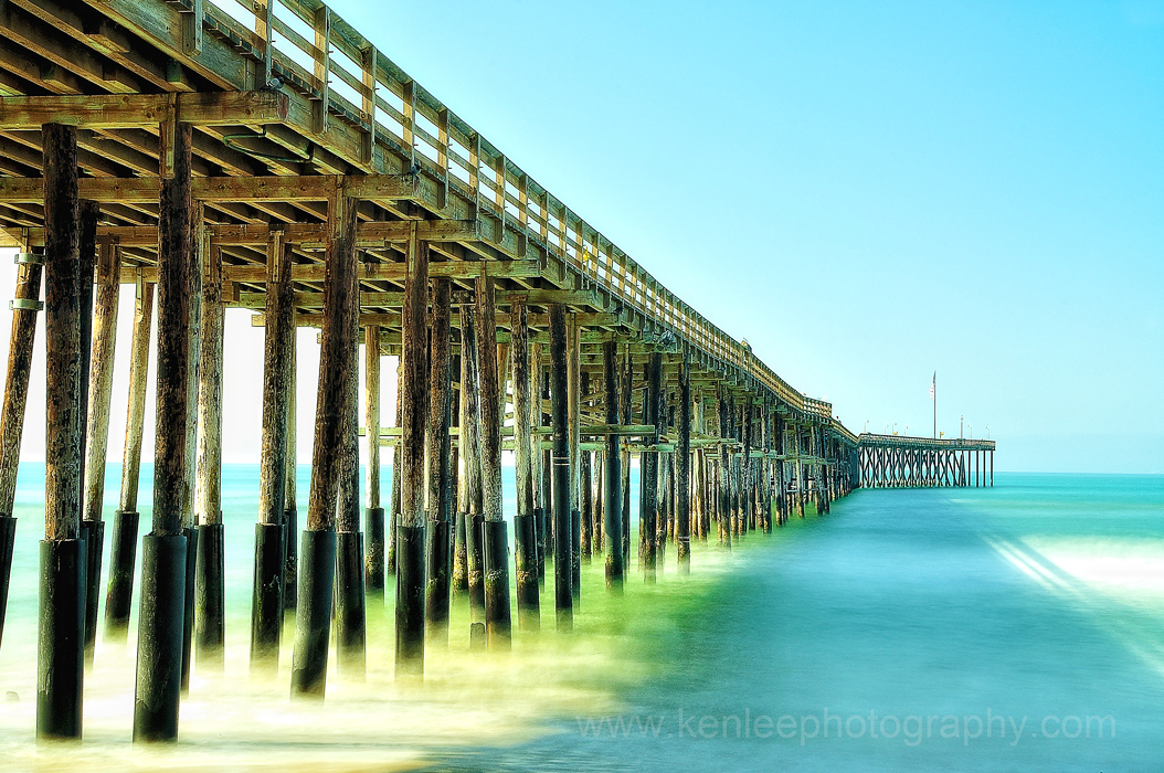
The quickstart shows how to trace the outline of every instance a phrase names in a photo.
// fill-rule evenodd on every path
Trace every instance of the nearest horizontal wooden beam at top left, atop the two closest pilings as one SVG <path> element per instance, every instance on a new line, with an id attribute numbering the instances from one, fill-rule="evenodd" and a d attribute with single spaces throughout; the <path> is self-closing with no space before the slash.
<path id="1" fill-rule="evenodd" d="M 86 129 L 134 129 L 165 121 L 196 126 L 263 126 L 288 119 L 288 94 L 215 91 L 179 94 L 64 94 L 0 97 L 0 130 L 30 132 L 45 123 Z"/>

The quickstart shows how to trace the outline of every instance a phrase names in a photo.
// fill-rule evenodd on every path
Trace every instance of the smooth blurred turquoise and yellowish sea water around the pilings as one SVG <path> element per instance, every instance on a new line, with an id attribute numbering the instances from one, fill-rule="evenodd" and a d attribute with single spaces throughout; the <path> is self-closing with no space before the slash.
<path id="1" fill-rule="evenodd" d="M 428 653 L 421 688 L 392 680 L 390 616 L 374 612 L 368 681 L 333 673 L 327 702 L 301 707 L 286 697 L 290 636 L 279 681 L 247 676 L 257 468 L 227 468 L 227 674 L 196 673 L 183 743 L 132 747 L 133 646 L 99 644 L 84 745 L 37 751 L 40 475 L 22 470 L 17 492 L 28 504 L 0 689 L 20 702 L 0 703 L 0 767 L 1164 768 L 1162 476 L 857 491 L 731 553 L 696 545 L 690 579 L 668 549 L 660 583 L 632 575 L 622 598 L 596 562 L 575 633 L 554 633 L 546 615 L 511 655 L 468 652 L 455 604 L 450 646 Z"/>

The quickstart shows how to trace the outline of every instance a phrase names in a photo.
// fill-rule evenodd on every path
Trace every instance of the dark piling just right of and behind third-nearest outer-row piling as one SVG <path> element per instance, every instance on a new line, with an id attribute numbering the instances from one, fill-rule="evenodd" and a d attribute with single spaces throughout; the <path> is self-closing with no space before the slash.
<path id="1" fill-rule="evenodd" d="M 449 328 L 452 283 L 432 281 L 433 313 L 428 336 L 428 416 L 426 434 L 426 510 L 428 512 L 425 584 L 425 633 L 430 644 L 448 645 L 449 580 L 452 575 L 450 455 L 448 438 L 452 411 L 452 339 Z"/>

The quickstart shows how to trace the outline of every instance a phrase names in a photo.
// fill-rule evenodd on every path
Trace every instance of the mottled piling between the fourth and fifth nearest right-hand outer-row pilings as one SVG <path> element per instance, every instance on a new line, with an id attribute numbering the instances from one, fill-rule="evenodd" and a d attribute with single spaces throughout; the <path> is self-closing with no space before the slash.
<path id="1" fill-rule="evenodd" d="M 538 600 L 538 545 L 534 523 L 534 451 L 530 430 L 533 392 L 530 378 L 528 314 L 524 304 L 510 307 L 510 359 L 513 363 L 513 461 L 517 515 L 513 541 L 517 558 L 517 614 L 523 631 L 541 627 Z M 539 411 L 540 413 L 540 411 Z M 540 444 L 539 444 L 540 445 Z"/>

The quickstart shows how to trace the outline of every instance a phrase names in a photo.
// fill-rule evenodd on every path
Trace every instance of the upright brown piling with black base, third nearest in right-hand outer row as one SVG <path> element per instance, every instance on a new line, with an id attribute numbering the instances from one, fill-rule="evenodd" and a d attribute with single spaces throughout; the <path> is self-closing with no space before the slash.
<path id="1" fill-rule="evenodd" d="M 428 243 L 417 239 L 416 224 L 406 262 L 400 349 L 400 516 L 396 526 L 396 675 L 420 678 L 425 659 Z"/>

